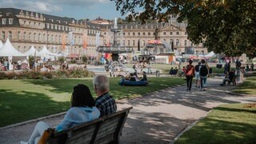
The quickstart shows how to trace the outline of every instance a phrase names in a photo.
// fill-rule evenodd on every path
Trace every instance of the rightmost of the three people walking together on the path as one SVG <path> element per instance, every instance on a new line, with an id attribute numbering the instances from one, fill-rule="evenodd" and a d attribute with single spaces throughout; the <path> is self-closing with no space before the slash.
<path id="1" fill-rule="evenodd" d="M 204 59 L 201 60 L 201 66 L 199 68 L 199 75 L 200 75 L 200 90 L 205 90 L 204 86 L 206 86 L 206 78 L 208 74 L 208 70 L 206 67 L 206 61 Z"/>

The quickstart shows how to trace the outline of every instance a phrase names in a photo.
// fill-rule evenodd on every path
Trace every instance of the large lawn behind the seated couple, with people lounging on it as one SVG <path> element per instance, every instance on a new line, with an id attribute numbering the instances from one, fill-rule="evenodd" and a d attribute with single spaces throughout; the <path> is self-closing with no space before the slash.
<path id="1" fill-rule="evenodd" d="M 119 79 L 110 78 L 110 94 L 115 99 L 134 98 L 185 82 L 158 77 L 148 78 L 148 86 L 119 86 Z M 73 86 L 78 83 L 89 86 L 95 97 L 91 78 L 1 80 L 0 127 L 68 110 Z"/>

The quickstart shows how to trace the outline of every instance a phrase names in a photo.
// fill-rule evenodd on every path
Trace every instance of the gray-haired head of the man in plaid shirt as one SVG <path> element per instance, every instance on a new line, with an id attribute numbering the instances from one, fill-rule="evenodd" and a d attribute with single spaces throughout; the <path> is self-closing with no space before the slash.
<path id="1" fill-rule="evenodd" d="M 96 75 L 93 79 L 94 89 L 100 91 L 110 90 L 110 81 L 105 75 Z"/>

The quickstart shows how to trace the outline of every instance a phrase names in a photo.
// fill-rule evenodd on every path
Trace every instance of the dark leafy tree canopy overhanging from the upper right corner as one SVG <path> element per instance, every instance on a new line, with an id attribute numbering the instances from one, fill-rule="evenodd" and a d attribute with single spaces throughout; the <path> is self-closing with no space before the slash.
<path id="1" fill-rule="evenodd" d="M 226 56 L 256 57 L 256 0 L 110 0 L 128 18 L 142 22 L 170 15 L 187 23 L 188 38 Z"/>

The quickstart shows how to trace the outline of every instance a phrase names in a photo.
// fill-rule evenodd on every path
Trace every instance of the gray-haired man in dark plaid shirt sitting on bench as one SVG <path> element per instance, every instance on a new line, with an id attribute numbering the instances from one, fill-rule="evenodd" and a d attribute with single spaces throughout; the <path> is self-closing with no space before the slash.
<path id="1" fill-rule="evenodd" d="M 93 79 L 94 91 L 98 98 L 95 99 L 96 107 L 101 112 L 101 116 L 114 114 L 117 111 L 117 105 L 114 98 L 110 95 L 109 78 L 105 75 L 96 75 Z"/>

